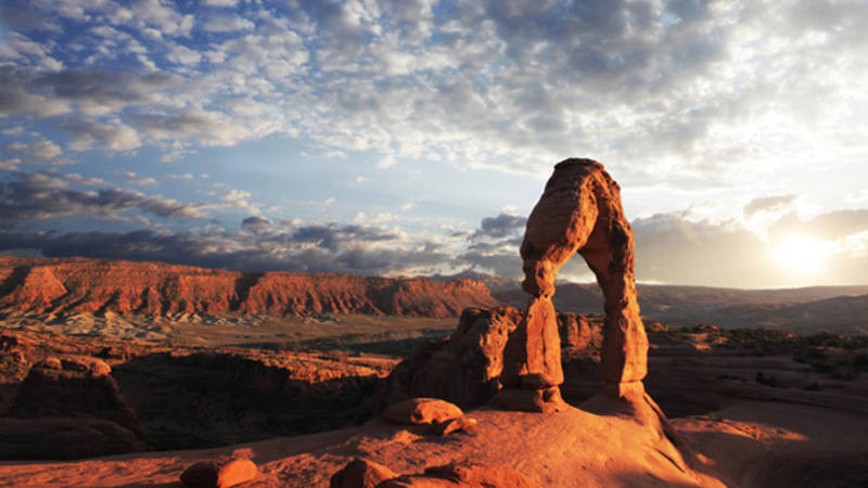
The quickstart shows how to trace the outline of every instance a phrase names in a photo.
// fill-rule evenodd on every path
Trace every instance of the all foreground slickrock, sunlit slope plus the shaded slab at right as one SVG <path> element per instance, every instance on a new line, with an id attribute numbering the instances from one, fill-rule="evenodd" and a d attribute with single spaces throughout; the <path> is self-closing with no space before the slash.
<path id="1" fill-rule="evenodd" d="M 475 434 L 424 434 L 381 420 L 343 431 L 210 450 L 125 454 L 78 462 L 2 462 L 8 486 L 180 486 L 189 465 L 233 450 L 253 452 L 254 486 L 326 487 L 356 457 L 398 474 L 449 462 L 505 466 L 541 486 L 844 487 L 868 479 L 864 415 L 746 401 L 713 418 L 675 420 L 699 452 L 682 471 L 637 423 L 570 408 L 551 415 L 475 410 Z"/>

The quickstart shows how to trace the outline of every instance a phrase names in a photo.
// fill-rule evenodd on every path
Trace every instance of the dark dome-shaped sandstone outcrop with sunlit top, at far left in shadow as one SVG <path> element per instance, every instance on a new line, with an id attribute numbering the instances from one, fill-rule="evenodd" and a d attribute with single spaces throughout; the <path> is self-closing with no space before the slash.
<path id="1" fill-rule="evenodd" d="M 87 415 L 118 423 L 142 437 L 136 412 L 120 395 L 112 368 L 91 357 L 49 357 L 18 387 L 9 415 L 21 419 Z"/>

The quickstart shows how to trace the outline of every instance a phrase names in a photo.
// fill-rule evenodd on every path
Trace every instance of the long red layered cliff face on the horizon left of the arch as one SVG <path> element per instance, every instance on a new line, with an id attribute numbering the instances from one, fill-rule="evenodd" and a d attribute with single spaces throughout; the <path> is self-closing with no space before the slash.
<path id="1" fill-rule="evenodd" d="M 158 262 L 0 256 L 0 316 L 366 313 L 448 318 L 498 305 L 474 280 L 242 273 Z"/>

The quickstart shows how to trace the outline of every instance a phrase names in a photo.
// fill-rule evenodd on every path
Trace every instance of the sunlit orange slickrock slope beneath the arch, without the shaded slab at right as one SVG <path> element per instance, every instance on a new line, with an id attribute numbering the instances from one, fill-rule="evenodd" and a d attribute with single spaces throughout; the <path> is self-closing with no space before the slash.
<path id="1" fill-rule="evenodd" d="M 426 435 L 375 420 L 365 426 L 244 445 L 260 475 L 245 486 L 328 486 L 355 457 L 398 474 L 472 461 L 505 466 L 541 486 L 722 486 L 682 471 L 656 450 L 653 432 L 624 418 L 570 408 L 551 415 L 477 410 L 474 435 Z M 115 457 L 74 464 L 0 464 L 0 483 L 80 486 L 169 486 L 193 462 L 231 449 Z"/>

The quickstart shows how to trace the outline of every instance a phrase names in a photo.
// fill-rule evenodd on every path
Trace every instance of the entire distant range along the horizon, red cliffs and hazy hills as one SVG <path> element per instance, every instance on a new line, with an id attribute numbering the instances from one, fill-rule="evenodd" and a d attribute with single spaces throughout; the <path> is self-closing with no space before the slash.
<path id="1" fill-rule="evenodd" d="M 868 285 L 789 290 L 639 285 L 648 320 L 674 325 L 868 334 Z M 467 307 L 524 307 L 519 281 L 464 271 L 429 278 L 233 272 L 112 259 L 0 256 L 0 318 L 76 313 L 457 317 Z M 554 305 L 602 312 L 595 283 L 558 283 Z"/>

